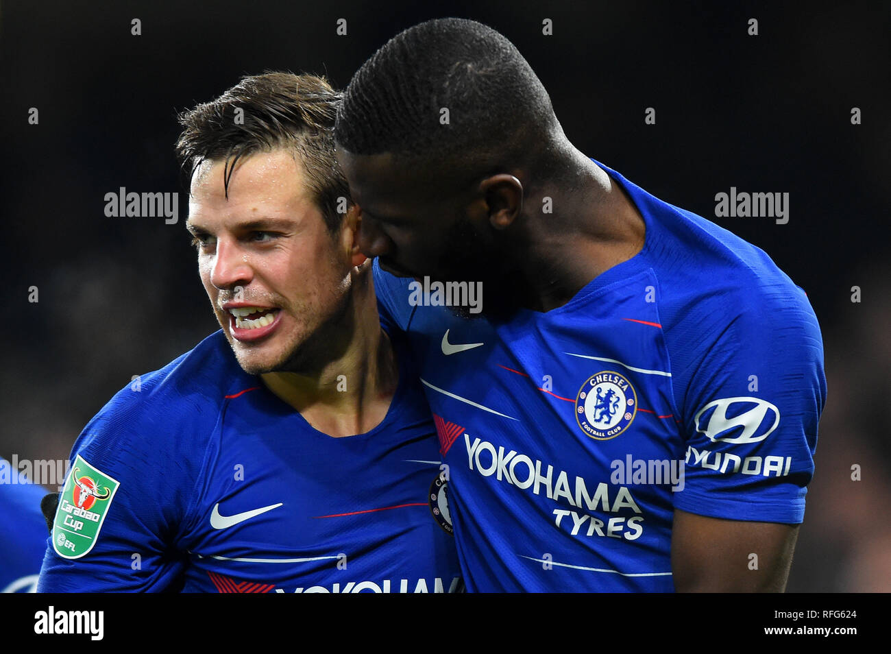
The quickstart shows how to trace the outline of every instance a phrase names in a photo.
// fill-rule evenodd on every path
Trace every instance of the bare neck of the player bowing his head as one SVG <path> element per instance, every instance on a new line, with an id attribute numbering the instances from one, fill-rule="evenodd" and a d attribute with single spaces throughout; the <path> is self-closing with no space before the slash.
<path id="1" fill-rule="evenodd" d="M 527 216 L 516 262 L 525 286 L 523 303 L 535 311 L 562 307 L 599 274 L 641 251 L 644 223 L 634 203 L 581 152 L 572 148 L 575 176 L 542 184 L 524 202 L 530 208 L 552 198 L 552 214 Z"/>

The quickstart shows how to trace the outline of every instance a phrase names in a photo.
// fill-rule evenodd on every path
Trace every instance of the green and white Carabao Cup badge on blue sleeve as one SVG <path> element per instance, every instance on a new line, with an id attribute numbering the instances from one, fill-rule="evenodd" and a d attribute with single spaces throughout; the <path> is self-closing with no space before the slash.
<path id="1" fill-rule="evenodd" d="M 61 491 L 53 521 L 53 549 L 64 559 L 79 559 L 93 549 L 119 482 L 78 454 Z"/>

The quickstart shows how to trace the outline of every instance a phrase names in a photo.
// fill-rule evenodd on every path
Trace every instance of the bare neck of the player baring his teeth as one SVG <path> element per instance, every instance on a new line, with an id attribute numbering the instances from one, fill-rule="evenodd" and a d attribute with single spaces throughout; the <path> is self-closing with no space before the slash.
<path id="1" fill-rule="evenodd" d="M 389 339 L 380 328 L 370 267 L 353 272 L 346 315 L 325 325 L 307 344 L 312 363 L 294 372 L 261 375 L 274 395 L 331 437 L 364 434 L 387 415 L 399 371 Z"/>

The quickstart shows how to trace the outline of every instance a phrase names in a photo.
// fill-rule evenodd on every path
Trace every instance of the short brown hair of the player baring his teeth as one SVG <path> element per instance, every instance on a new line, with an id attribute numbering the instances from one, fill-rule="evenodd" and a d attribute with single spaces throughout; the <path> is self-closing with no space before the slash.
<path id="1" fill-rule="evenodd" d="M 334 158 L 334 118 L 341 94 L 316 75 L 266 72 L 251 75 L 220 95 L 180 114 L 183 132 L 176 157 L 191 184 L 205 159 L 225 161 L 225 192 L 235 163 L 258 151 L 287 148 L 306 171 L 307 186 L 335 232 L 343 215 L 339 198 L 349 185 Z M 187 186 L 188 187 L 188 186 Z"/>

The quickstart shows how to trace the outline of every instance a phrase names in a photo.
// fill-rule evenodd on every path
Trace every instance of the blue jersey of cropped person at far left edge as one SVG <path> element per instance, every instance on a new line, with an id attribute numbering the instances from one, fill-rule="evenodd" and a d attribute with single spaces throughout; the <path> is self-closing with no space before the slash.
<path id="1" fill-rule="evenodd" d="M 47 491 L 0 459 L 0 593 L 33 593 L 46 549 Z"/>

